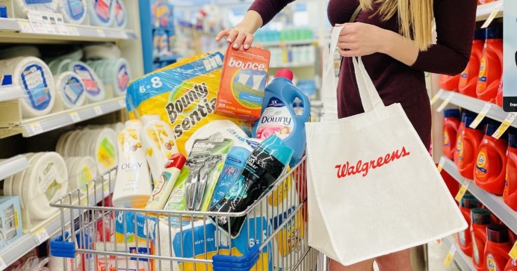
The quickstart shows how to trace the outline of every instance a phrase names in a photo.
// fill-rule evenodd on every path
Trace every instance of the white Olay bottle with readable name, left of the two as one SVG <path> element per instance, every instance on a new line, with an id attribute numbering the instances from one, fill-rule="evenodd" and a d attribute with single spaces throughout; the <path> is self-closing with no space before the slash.
<path id="1" fill-rule="evenodd" d="M 144 208 L 151 195 L 149 167 L 140 141 L 142 122 L 129 120 L 118 135 L 118 168 L 113 205 L 120 208 Z"/>

